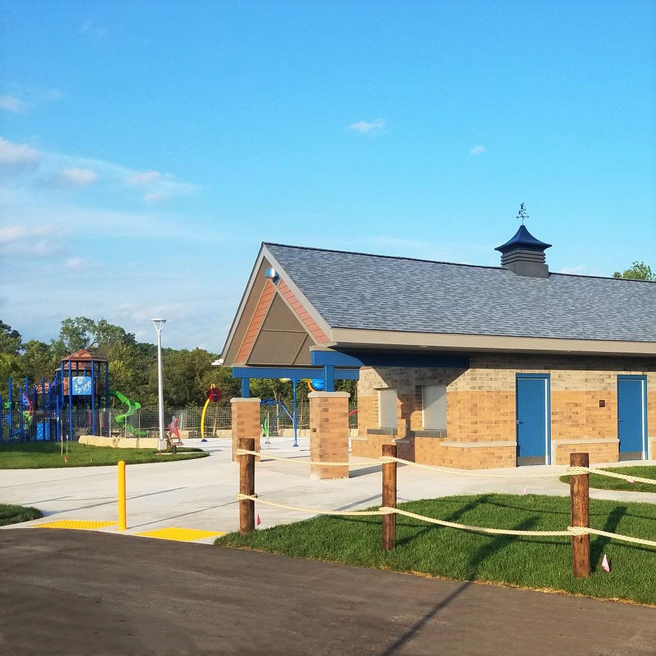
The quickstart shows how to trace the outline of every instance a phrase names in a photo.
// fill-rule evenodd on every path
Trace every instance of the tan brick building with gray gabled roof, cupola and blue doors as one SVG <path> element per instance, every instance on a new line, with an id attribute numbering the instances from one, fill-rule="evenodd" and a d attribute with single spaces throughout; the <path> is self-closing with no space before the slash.
<path id="1" fill-rule="evenodd" d="M 550 273 L 548 247 L 521 226 L 489 267 L 265 243 L 225 364 L 357 379 L 357 456 L 656 458 L 656 283 Z"/>

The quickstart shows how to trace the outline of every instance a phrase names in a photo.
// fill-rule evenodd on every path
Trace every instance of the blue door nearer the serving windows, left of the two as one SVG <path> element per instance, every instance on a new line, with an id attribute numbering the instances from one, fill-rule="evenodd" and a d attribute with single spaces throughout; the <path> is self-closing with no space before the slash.
<path id="1" fill-rule="evenodd" d="M 548 374 L 517 374 L 517 464 L 545 465 L 550 451 Z"/>

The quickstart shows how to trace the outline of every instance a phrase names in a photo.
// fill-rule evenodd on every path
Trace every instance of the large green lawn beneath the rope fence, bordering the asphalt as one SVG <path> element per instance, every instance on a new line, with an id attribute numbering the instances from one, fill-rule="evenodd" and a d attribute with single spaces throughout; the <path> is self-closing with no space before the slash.
<path id="1" fill-rule="evenodd" d="M 567 497 L 484 494 L 424 499 L 399 507 L 463 524 L 540 531 L 565 530 L 570 522 L 569 504 Z M 261 505 L 257 512 L 265 515 L 270 511 Z M 590 525 L 656 540 L 656 505 L 591 499 Z M 255 530 L 245 536 L 229 533 L 217 538 L 215 544 L 449 579 L 492 581 L 656 604 L 656 549 L 650 547 L 590 536 L 592 576 L 574 579 L 568 537 L 489 536 L 403 516 L 397 516 L 395 550 L 383 552 L 380 536 L 379 516 L 319 516 Z M 603 554 L 608 554 L 610 574 L 601 569 Z"/>

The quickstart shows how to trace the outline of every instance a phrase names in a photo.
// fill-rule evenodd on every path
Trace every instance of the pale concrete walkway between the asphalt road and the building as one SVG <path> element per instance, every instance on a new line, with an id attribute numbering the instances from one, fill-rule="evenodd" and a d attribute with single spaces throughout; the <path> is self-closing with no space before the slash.
<path id="1" fill-rule="evenodd" d="M 309 458 L 308 440 L 292 449 L 288 440 L 278 447 L 266 447 L 277 456 L 292 457 L 297 462 Z M 238 464 L 232 462 L 229 440 L 200 444 L 185 441 L 210 452 L 209 458 L 127 468 L 127 516 L 129 533 L 140 533 L 162 527 L 182 527 L 214 532 L 238 528 L 235 494 L 238 489 Z M 361 459 L 353 458 L 353 462 Z M 624 462 L 622 465 L 630 463 Z M 489 470 L 490 473 L 514 472 L 535 474 L 536 471 L 563 473 L 564 467 L 521 467 Z M 550 478 L 474 478 L 436 474 L 416 467 L 399 467 L 400 501 L 447 496 L 508 492 L 521 494 L 556 494 L 566 496 L 569 486 Z M 256 466 L 256 492 L 259 496 L 288 505 L 318 509 L 362 509 L 381 501 L 380 467 L 364 467 L 351 471 L 350 478 L 312 480 L 307 465 L 263 460 Z M 0 501 L 39 508 L 48 521 L 87 520 L 115 521 L 115 467 L 77 467 L 71 469 L 0 470 Z M 656 494 L 610 490 L 590 490 L 594 498 L 635 500 L 654 503 Z M 261 527 L 290 523 L 307 518 L 288 510 L 259 505 Z M 44 523 L 44 519 L 15 526 Z M 10 527 L 6 527 L 10 528 Z M 115 527 L 104 531 L 113 532 Z M 211 542 L 205 538 L 199 542 Z"/>

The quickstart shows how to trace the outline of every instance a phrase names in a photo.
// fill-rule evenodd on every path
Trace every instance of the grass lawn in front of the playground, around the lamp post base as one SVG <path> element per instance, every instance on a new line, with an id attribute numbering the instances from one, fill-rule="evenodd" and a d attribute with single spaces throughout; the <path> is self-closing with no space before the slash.
<path id="1" fill-rule="evenodd" d="M 66 444 L 64 444 L 66 453 Z M 209 456 L 200 449 L 178 448 L 176 455 L 158 456 L 153 449 L 113 449 L 92 447 L 88 444 L 70 442 L 68 463 L 62 456 L 62 444 L 58 442 L 10 442 L 0 444 L 0 469 L 44 469 L 47 467 L 95 467 L 116 465 L 125 460 L 126 465 L 142 465 L 145 462 L 171 462 L 192 460 Z"/>

